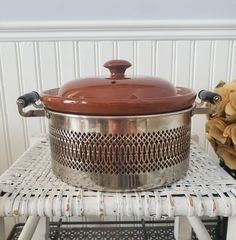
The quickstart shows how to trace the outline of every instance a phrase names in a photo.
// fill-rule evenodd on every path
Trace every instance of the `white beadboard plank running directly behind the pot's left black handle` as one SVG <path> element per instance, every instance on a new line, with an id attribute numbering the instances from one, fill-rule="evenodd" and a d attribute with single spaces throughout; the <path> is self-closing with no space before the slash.
<path id="1" fill-rule="evenodd" d="M 32 42 L 19 43 L 18 48 L 21 63 L 21 79 L 23 83 L 21 93 L 31 91 L 40 92 L 35 69 L 34 45 Z M 26 121 L 27 144 L 29 144 L 32 136 L 36 136 L 42 132 L 42 126 L 40 118 L 25 118 L 23 120 Z"/>

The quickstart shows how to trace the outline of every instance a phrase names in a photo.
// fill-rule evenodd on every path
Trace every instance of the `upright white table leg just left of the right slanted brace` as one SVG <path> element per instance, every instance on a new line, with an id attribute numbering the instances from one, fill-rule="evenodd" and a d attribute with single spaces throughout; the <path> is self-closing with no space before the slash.
<path id="1" fill-rule="evenodd" d="M 175 217 L 174 235 L 176 240 L 192 239 L 192 227 L 185 216 Z"/>

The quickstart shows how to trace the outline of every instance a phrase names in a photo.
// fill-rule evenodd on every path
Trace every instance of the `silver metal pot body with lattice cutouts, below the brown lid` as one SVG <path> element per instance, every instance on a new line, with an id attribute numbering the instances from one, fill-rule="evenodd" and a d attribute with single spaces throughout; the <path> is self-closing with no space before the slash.
<path id="1" fill-rule="evenodd" d="M 188 169 L 192 108 L 148 116 L 48 111 L 52 169 L 85 189 L 127 192 L 172 183 Z"/>

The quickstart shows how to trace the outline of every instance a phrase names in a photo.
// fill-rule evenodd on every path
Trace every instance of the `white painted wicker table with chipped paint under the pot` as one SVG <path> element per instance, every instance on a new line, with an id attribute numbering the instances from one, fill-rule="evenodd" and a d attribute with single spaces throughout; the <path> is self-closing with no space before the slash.
<path id="1" fill-rule="evenodd" d="M 199 217 L 226 216 L 227 240 L 233 240 L 236 181 L 192 143 L 187 176 L 171 186 L 135 193 L 82 190 L 52 174 L 49 143 L 41 138 L 0 177 L 0 217 L 22 215 L 30 216 L 31 230 L 43 216 L 177 217 L 175 236 L 181 240 L 189 239 L 187 231 L 178 231 L 186 228 L 183 217 L 199 239 L 210 239 Z"/>

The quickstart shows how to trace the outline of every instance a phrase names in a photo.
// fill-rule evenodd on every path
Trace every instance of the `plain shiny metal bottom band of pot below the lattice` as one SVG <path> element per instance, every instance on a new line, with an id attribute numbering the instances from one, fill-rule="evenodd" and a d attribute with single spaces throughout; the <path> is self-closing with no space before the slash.
<path id="1" fill-rule="evenodd" d="M 91 174 L 52 161 L 53 173 L 64 182 L 83 189 L 107 192 L 145 191 L 165 186 L 186 175 L 189 159 L 175 166 L 139 175 Z"/>

